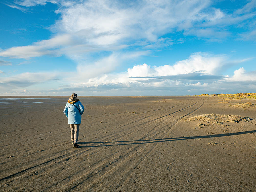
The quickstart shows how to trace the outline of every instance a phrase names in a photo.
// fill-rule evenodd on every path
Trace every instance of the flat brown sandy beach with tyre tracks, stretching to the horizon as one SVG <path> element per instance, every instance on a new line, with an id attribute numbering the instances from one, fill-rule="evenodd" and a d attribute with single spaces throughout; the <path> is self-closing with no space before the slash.
<path id="1" fill-rule="evenodd" d="M 254 98 L 78 97 L 79 148 L 69 97 L 15 98 L 0 99 L 0 191 L 256 191 Z"/>

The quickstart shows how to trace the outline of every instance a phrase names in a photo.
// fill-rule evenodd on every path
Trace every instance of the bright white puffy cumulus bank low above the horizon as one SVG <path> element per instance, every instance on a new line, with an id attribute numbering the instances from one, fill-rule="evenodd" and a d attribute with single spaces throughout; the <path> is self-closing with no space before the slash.
<path id="1" fill-rule="evenodd" d="M 240 62 L 244 60 L 247 59 L 242 59 Z M 239 61 L 233 62 L 237 64 Z M 218 71 L 230 63 L 232 61 L 229 61 L 225 55 L 198 52 L 173 65 L 150 66 L 144 63 L 128 68 L 126 72 L 108 73 L 90 78 L 76 84 L 73 89 L 77 87 L 89 91 L 92 95 L 108 95 L 113 90 L 116 95 L 120 93 L 121 95 L 135 93 L 154 95 L 156 92 L 160 95 L 164 93 L 175 95 L 175 92 L 196 94 L 200 91 L 201 93 L 234 92 L 241 88 L 241 84 L 237 84 L 237 81 L 256 80 L 255 73 L 245 72 L 243 68 L 234 71 L 233 77 L 218 75 Z M 249 87 L 245 87 L 249 90 Z"/>

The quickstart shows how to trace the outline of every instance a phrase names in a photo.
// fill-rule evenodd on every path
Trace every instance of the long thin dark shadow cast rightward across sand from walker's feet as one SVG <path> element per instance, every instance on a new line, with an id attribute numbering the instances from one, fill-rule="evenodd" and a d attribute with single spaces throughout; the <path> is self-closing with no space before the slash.
<path id="1" fill-rule="evenodd" d="M 242 131 L 235 133 L 223 133 L 215 135 L 202 135 L 202 136 L 191 136 L 191 137 L 175 137 L 175 138 L 164 138 L 164 139 L 148 139 L 148 140 L 127 140 L 127 141 L 103 141 L 103 142 L 79 142 L 79 144 L 90 144 L 90 143 L 120 143 L 120 144 L 107 144 L 107 145 L 89 145 L 80 147 L 104 147 L 104 146 L 118 146 L 118 145 L 136 145 L 136 144 L 145 144 L 145 143 L 158 143 L 166 141 L 178 141 L 178 140 L 188 140 L 188 139 L 199 139 L 199 138 L 213 138 L 213 137 L 226 137 L 232 135 L 241 135 L 247 133 L 256 133 L 256 130 L 252 131 Z M 122 142 L 135 142 L 135 143 L 122 143 Z"/>

